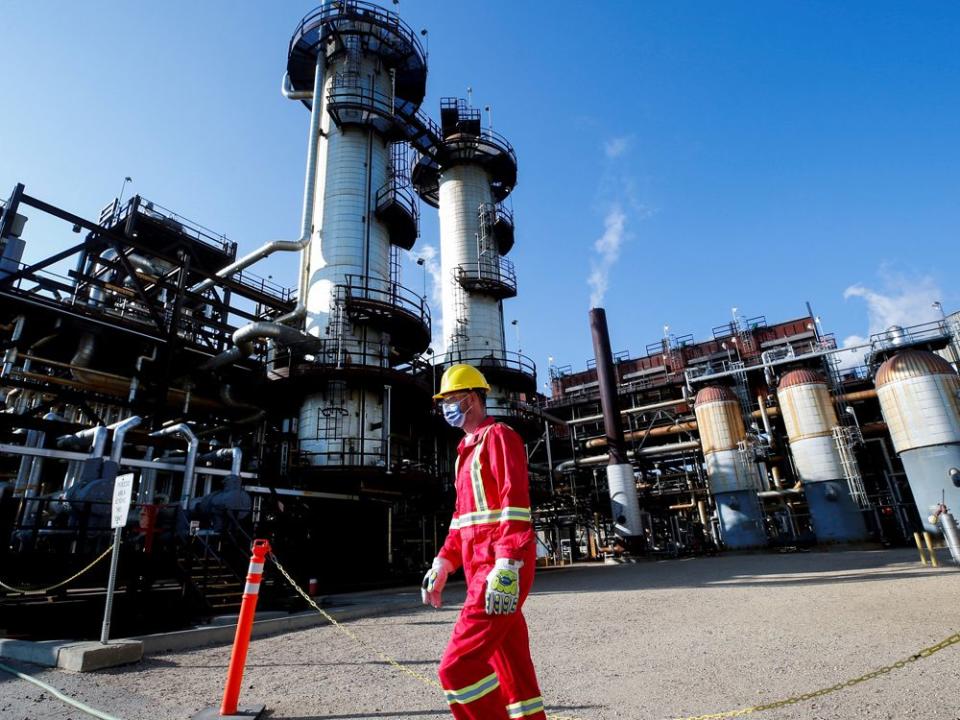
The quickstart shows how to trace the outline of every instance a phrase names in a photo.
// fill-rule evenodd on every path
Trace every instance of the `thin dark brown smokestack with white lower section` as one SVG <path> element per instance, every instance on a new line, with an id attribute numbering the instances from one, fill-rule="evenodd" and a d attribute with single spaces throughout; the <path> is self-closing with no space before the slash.
<path id="1" fill-rule="evenodd" d="M 597 360 L 597 384 L 600 386 L 603 428 L 610 452 L 607 487 L 610 489 L 613 527 L 617 535 L 630 539 L 643 535 L 643 521 L 637 502 L 633 465 L 627 462 L 623 424 L 617 402 L 617 381 L 613 372 L 613 353 L 610 351 L 610 333 L 607 330 L 607 313 L 603 308 L 593 308 L 590 311 L 590 333 L 593 336 L 593 355 Z"/>

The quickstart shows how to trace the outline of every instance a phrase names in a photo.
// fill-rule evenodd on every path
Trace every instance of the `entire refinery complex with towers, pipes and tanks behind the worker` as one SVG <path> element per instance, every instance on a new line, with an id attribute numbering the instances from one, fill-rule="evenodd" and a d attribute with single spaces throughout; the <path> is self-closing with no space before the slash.
<path id="1" fill-rule="evenodd" d="M 484 373 L 488 411 L 527 442 L 544 564 L 912 545 L 924 531 L 960 559 L 944 509 L 960 510 L 960 313 L 876 334 L 848 368 L 809 307 L 734 313 L 705 339 L 665 331 L 636 355 L 612 351 L 595 309 L 593 360 L 551 365 L 547 398 L 504 337 L 522 289 L 517 153 L 470 99 L 443 98 L 433 119 L 426 83 L 419 33 L 395 12 L 339 0 L 304 17 L 281 86 L 307 111 L 300 234 L 246 255 L 140 195 L 86 217 L 12 189 L 4 582 L 44 587 L 101 555 L 129 473 L 118 632 L 236 610 L 253 537 L 315 592 L 418 581 L 450 521 L 456 437 L 431 397 L 456 363 Z M 440 307 L 401 277 L 421 204 L 439 215 Z M 63 249 L 26 262 L 41 216 Z M 257 274 L 268 256 L 295 286 Z M 335 585 L 311 583 L 321 570 Z M 70 606 L 71 632 L 94 634 L 106 575 L 0 589 L 8 628 L 61 636 Z M 268 575 L 263 602 L 299 601 Z"/>

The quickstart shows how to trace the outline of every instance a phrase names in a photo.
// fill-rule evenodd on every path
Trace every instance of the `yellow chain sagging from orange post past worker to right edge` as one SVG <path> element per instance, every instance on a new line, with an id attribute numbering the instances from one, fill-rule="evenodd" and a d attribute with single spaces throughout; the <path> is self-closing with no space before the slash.
<path id="1" fill-rule="evenodd" d="M 269 558 L 273 562 L 273 564 L 277 566 L 277 570 L 279 570 L 280 573 L 283 575 L 283 577 L 286 578 L 287 582 L 290 584 L 290 587 L 292 587 L 297 592 L 297 594 L 300 595 L 300 597 L 306 600 L 310 604 L 310 606 L 313 607 L 314 610 L 320 613 L 324 617 L 324 619 L 327 620 L 331 625 L 333 625 L 337 630 L 342 632 L 344 635 L 349 637 L 351 640 L 353 640 L 355 643 L 360 645 L 365 650 L 368 650 L 369 652 L 379 657 L 381 660 L 386 662 L 388 665 L 390 665 L 394 669 L 399 670 L 400 672 L 406 673 L 407 675 L 415 679 L 417 682 L 432 688 L 442 689 L 440 683 L 437 680 L 434 680 L 431 677 L 427 677 L 423 673 L 417 672 L 416 670 L 412 670 L 406 667 L 405 665 L 400 664 L 399 662 L 394 660 L 392 657 L 390 657 L 383 651 L 378 650 L 377 648 L 373 647 L 366 641 L 360 639 L 356 633 L 350 630 L 350 628 L 338 622 L 336 618 L 334 618 L 332 615 L 326 612 L 323 608 L 317 605 L 317 603 L 314 602 L 313 598 L 311 598 L 306 592 L 304 592 L 303 588 L 297 585 L 294 579 L 290 577 L 290 573 L 288 573 L 284 569 L 284 567 L 280 564 L 280 562 L 277 560 L 276 555 L 274 555 L 273 553 L 270 553 Z M 744 717 L 745 715 L 752 715 L 753 713 L 764 712 L 766 710 L 775 710 L 777 708 L 786 707 L 788 705 L 796 705 L 798 703 L 806 702 L 807 700 L 813 700 L 814 698 L 823 697 L 824 695 L 829 695 L 830 693 L 837 692 L 838 690 L 843 690 L 844 688 L 849 688 L 849 687 L 853 687 L 854 685 L 859 685 L 860 683 L 866 682 L 868 680 L 873 680 L 875 678 L 882 677 L 883 675 L 893 672 L 894 670 L 901 670 L 905 668 L 907 665 L 916 662 L 917 660 L 920 660 L 922 658 L 928 658 L 934 653 L 938 653 L 941 650 L 944 650 L 945 648 L 948 648 L 952 645 L 956 645 L 958 643 L 960 643 L 960 632 L 956 632 L 953 635 L 950 635 L 949 637 L 944 638 L 943 640 L 941 640 L 935 645 L 925 647 L 922 650 L 914 653 L 913 655 L 910 655 L 909 657 L 906 657 L 902 660 L 897 660 L 892 665 L 884 665 L 883 667 L 877 668 L 876 670 L 871 670 L 868 673 L 864 673 L 859 677 L 855 677 L 849 680 L 844 680 L 843 682 L 839 682 L 836 685 L 830 685 L 829 687 L 820 688 L 819 690 L 812 690 L 810 692 L 801 693 L 799 695 L 793 695 L 791 697 L 784 698 L 782 700 L 774 700 L 772 702 L 763 703 L 761 705 L 752 705 L 750 707 L 740 708 L 738 710 L 727 710 L 726 712 L 719 712 L 719 713 L 707 713 L 705 715 L 688 715 L 682 718 L 674 718 L 674 720 L 723 720 L 724 718 Z M 547 720 L 585 720 L 585 718 L 580 718 L 573 715 L 547 715 Z"/>

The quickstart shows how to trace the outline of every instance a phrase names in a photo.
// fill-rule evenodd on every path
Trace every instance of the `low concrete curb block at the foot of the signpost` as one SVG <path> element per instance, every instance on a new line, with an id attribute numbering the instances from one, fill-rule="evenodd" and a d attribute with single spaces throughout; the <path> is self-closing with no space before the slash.
<path id="1" fill-rule="evenodd" d="M 98 642 L 46 640 L 0 640 L 0 657 L 23 660 L 42 667 L 57 667 L 70 672 L 91 672 L 140 662 L 143 643 L 137 640 Z"/>

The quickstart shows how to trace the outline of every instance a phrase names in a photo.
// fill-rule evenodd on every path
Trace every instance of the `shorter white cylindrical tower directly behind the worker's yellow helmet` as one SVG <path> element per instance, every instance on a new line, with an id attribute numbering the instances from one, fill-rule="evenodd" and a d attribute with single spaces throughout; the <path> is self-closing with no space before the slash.
<path id="1" fill-rule="evenodd" d="M 505 257 L 513 217 L 503 205 L 516 183 L 516 155 L 462 99 L 442 99 L 440 120 L 437 146 L 413 174 L 420 196 L 440 210 L 443 353 L 436 362 L 478 367 L 491 387 L 488 411 L 509 419 L 517 395 L 536 390 L 533 362 L 519 348 L 507 350 L 504 338 L 503 300 L 517 294 Z"/>

